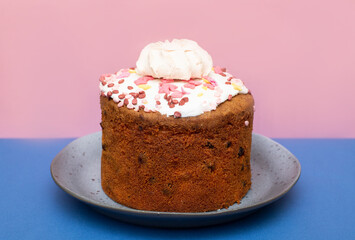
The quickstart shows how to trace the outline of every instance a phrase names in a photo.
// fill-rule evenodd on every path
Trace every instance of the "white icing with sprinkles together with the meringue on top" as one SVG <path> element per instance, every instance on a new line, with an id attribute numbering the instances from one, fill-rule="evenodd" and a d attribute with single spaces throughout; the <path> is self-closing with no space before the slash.
<path id="1" fill-rule="evenodd" d="M 174 117 L 198 116 L 248 93 L 240 79 L 212 67 L 208 53 L 185 39 L 146 46 L 136 68 L 102 75 L 100 91 L 118 107 Z"/>

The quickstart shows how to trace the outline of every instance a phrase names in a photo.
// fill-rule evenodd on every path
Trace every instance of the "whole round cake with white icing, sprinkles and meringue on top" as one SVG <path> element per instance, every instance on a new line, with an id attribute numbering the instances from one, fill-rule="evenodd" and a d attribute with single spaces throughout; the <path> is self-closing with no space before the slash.
<path id="1" fill-rule="evenodd" d="M 100 77 L 104 192 L 149 211 L 240 203 L 254 114 L 244 83 L 186 39 L 147 45 L 136 65 Z"/>

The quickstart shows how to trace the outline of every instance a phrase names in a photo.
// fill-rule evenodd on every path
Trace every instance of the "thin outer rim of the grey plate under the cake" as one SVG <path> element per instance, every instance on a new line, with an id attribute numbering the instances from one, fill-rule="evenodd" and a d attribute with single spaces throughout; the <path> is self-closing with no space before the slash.
<path id="1" fill-rule="evenodd" d="M 91 133 L 91 134 L 87 134 L 85 136 L 82 136 L 82 137 L 79 137 L 79 138 L 76 138 L 74 139 L 73 141 L 71 141 L 70 143 L 68 143 L 52 160 L 51 162 L 51 165 L 50 165 L 50 172 L 51 172 L 51 176 L 54 180 L 54 182 L 64 191 L 66 192 L 67 194 L 71 195 L 72 197 L 86 203 L 86 204 L 89 204 L 91 206 L 94 206 L 94 207 L 98 207 L 98 208 L 102 208 L 102 209 L 106 209 L 106 210 L 111 210 L 111 211 L 114 211 L 114 212 L 117 212 L 117 213 L 125 213 L 126 215 L 141 215 L 141 216 L 159 216 L 159 217 L 219 217 L 219 216 L 224 216 L 224 215 L 234 215 L 234 214 L 238 214 L 238 213 L 244 213 L 244 212 L 247 212 L 247 211 L 252 211 L 252 210 L 255 210 L 257 208 L 261 208 L 265 205 L 268 205 L 278 199 L 280 199 L 281 197 L 283 197 L 285 194 L 287 194 L 291 189 L 292 187 L 297 183 L 297 181 L 299 180 L 300 176 L 301 176 L 301 164 L 299 162 L 299 160 L 296 158 L 296 156 L 291 153 L 287 148 L 285 148 L 283 145 L 281 145 L 280 143 L 274 141 L 273 139 L 271 138 L 268 138 L 264 135 L 261 135 L 261 134 L 258 134 L 258 133 L 252 133 L 253 135 L 255 136 L 258 136 L 258 137 L 261 137 L 261 138 L 266 138 L 268 139 L 269 141 L 271 141 L 272 143 L 275 143 L 277 144 L 280 148 L 282 148 L 284 151 L 288 152 L 292 157 L 293 157 L 293 160 L 296 161 L 296 165 L 297 165 L 297 169 L 298 169 L 298 172 L 297 172 L 297 175 L 295 177 L 293 177 L 293 182 L 291 184 L 289 184 L 285 190 L 283 190 L 281 193 L 279 194 L 276 194 L 276 196 L 274 197 L 271 197 L 271 198 L 268 198 L 264 201 L 260 201 L 252 206 L 248 206 L 248 207 L 244 207 L 244 208 L 239 208 L 239 209 L 232 209 L 232 210 L 228 210 L 226 209 L 225 211 L 218 211 L 218 210 L 214 210 L 214 211 L 208 211 L 208 212 L 160 212 L 160 211 L 148 211 L 148 210 L 139 210 L 139 209 L 134 209 L 134 208 L 131 208 L 131 207 L 128 207 L 128 206 L 125 206 L 121 203 L 117 203 L 117 204 L 120 204 L 124 207 L 127 207 L 128 209 L 121 209 L 121 208 L 115 208 L 115 207 L 111 207 L 111 206 L 107 206 L 107 205 L 104 205 L 104 204 L 101 204 L 101 203 L 98 203 L 96 201 L 93 201 L 92 199 L 90 198 L 87 198 L 87 197 L 84 197 L 84 196 L 81 196 L 79 194 L 77 194 L 76 192 L 70 190 L 69 188 L 65 187 L 64 184 L 61 184 L 60 181 L 57 179 L 57 177 L 54 175 L 53 173 L 53 168 L 54 168 L 54 163 L 58 160 L 58 156 L 64 151 L 66 150 L 66 148 L 72 144 L 73 142 L 75 141 L 79 141 L 80 139 L 84 138 L 84 137 L 87 137 L 89 135 L 96 135 L 96 134 L 99 134 L 101 133 L 101 131 L 98 131 L 98 132 L 94 132 L 94 133 Z"/>

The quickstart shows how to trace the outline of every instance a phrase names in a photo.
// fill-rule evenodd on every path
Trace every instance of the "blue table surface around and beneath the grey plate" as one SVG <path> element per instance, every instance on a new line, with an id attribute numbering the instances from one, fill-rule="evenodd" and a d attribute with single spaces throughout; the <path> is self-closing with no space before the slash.
<path id="1" fill-rule="evenodd" d="M 73 139 L 0 139 L 0 239 L 355 239 L 355 139 L 275 139 L 301 162 L 285 197 L 246 218 L 159 229 L 106 217 L 62 191 L 50 163 Z"/>

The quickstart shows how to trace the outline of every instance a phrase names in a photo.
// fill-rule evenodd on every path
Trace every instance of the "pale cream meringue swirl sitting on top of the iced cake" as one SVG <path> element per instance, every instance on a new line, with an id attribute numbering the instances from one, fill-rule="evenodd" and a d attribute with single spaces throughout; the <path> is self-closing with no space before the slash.
<path id="1" fill-rule="evenodd" d="M 174 39 L 148 44 L 136 65 L 140 75 L 189 80 L 207 76 L 213 63 L 211 56 L 196 42 Z"/>

